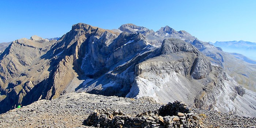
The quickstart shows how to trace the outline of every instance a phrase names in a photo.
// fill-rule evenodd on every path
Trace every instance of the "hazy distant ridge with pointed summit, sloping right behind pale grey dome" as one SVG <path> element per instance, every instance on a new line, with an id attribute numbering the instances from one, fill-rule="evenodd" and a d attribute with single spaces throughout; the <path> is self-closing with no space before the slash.
<path id="1" fill-rule="evenodd" d="M 131 25 L 124 26 L 126 26 L 127 29 L 132 29 Z M 136 32 L 140 33 L 140 31 Z M 145 35 L 146 39 L 150 44 L 153 44 L 156 47 L 161 46 L 162 41 L 168 38 L 181 39 L 185 42 L 191 43 L 204 55 L 211 57 L 211 63 L 213 65 L 217 65 L 224 68 L 224 70 L 234 80 L 236 80 L 238 84 L 240 84 L 240 86 L 252 91 L 256 91 L 255 64 L 246 63 L 244 60 L 237 58 L 237 56 L 234 56 L 227 52 L 223 52 L 220 48 L 215 47 L 214 45 L 211 45 L 208 42 L 200 41 L 199 39 L 192 36 L 186 31 L 176 31 L 169 26 L 161 27 L 156 32 L 154 32 L 153 30 L 149 30 L 146 33 L 141 33 Z"/>

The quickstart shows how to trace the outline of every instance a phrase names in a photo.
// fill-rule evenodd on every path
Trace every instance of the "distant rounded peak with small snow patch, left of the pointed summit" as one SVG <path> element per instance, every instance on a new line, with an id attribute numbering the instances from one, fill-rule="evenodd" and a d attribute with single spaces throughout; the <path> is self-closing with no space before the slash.
<path id="1" fill-rule="evenodd" d="M 146 27 L 133 25 L 131 23 L 121 25 L 118 29 L 127 33 L 146 33 L 147 31 L 150 31 Z"/>

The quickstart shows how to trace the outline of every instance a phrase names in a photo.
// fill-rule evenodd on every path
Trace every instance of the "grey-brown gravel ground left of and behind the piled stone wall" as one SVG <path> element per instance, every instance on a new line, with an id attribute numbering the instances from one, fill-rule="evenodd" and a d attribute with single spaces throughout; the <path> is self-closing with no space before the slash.
<path id="1" fill-rule="evenodd" d="M 130 116 L 161 105 L 151 98 L 130 99 L 87 93 L 69 93 L 53 100 L 40 100 L 0 115 L 0 128 L 73 128 L 84 127 L 83 121 L 95 109 L 120 109 Z"/>

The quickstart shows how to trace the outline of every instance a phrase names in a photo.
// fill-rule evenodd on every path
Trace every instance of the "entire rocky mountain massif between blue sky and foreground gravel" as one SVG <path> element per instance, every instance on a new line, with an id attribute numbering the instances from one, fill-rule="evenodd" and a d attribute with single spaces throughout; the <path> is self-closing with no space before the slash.
<path id="1" fill-rule="evenodd" d="M 169 26 L 78 23 L 58 40 L 22 38 L 0 54 L 0 111 L 83 91 L 256 116 L 255 75 L 255 64 Z"/>

